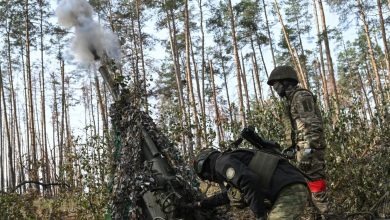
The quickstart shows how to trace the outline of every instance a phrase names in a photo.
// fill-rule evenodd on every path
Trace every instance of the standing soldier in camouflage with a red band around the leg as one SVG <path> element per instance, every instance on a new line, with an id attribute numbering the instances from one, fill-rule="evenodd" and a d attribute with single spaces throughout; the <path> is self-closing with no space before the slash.
<path id="1" fill-rule="evenodd" d="M 296 152 L 298 167 L 309 177 L 307 184 L 312 202 L 321 214 L 325 214 L 328 211 L 324 161 L 326 143 L 316 98 L 309 90 L 298 86 L 297 74 L 291 66 L 276 67 L 267 83 L 285 104 L 284 124 L 289 147 L 284 153 Z"/>

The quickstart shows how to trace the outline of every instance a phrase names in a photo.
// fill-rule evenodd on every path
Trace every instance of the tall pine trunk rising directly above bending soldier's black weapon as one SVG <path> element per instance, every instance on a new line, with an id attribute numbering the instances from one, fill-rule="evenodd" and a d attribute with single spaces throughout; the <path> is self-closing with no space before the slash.
<path id="1" fill-rule="evenodd" d="M 237 37 L 236 37 L 236 24 L 235 24 L 235 18 L 233 13 L 233 6 L 232 1 L 228 1 L 228 10 L 229 10 L 229 16 L 230 16 L 230 27 L 231 27 L 231 34 L 232 34 L 232 40 L 233 40 L 233 48 L 234 48 L 234 61 L 236 63 L 236 71 L 237 71 L 237 95 L 239 99 L 239 106 L 240 106 L 240 118 L 241 118 L 241 125 L 242 127 L 246 127 L 246 119 L 245 119 L 245 110 L 244 110 L 244 100 L 242 95 L 242 87 L 241 87 L 241 64 L 240 64 L 240 58 L 238 55 L 238 43 L 237 43 Z"/>

